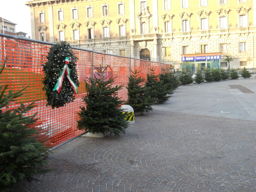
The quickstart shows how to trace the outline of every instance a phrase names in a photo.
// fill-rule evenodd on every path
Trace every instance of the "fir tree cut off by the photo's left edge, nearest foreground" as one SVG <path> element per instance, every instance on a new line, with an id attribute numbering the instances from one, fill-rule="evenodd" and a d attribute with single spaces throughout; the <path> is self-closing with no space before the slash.
<path id="1" fill-rule="evenodd" d="M 8 85 L 0 86 L 0 189 L 5 192 L 24 181 L 37 180 L 34 178 L 37 174 L 51 171 L 41 169 L 47 164 L 43 154 L 47 155 L 49 151 L 35 137 L 38 134 L 34 128 L 36 114 L 26 115 L 35 105 L 21 104 L 20 107 L 8 109 L 24 89 L 6 94 Z"/>

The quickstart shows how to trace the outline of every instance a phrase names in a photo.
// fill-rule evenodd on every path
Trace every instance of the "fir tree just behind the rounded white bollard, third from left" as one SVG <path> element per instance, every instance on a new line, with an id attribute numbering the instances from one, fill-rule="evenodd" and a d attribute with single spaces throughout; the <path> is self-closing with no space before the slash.
<path id="1" fill-rule="evenodd" d="M 144 112 L 152 111 L 154 100 L 150 98 L 150 88 L 143 83 L 145 79 L 141 78 L 137 69 L 132 71 L 129 76 L 128 86 L 128 101 L 126 104 L 132 106 L 135 112 L 144 114 Z"/>

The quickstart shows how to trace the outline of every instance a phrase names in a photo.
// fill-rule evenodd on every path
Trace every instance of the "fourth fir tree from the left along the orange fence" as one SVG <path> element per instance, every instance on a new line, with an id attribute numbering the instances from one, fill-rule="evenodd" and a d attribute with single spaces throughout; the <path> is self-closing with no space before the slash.
<path id="1" fill-rule="evenodd" d="M 159 76 L 155 74 L 154 68 L 150 68 L 149 70 L 150 73 L 147 74 L 146 86 L 150 87 L 150 97 L 157 103 L 168 101 L 170 96 L 167 95 L 167 85 L 162 80 L 159 80 Z"/>

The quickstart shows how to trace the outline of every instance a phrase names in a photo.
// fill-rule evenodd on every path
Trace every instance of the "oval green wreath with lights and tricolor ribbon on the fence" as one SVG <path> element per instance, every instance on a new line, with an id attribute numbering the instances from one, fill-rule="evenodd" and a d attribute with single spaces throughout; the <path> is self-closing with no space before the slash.
<path id="1" fill-rule="evenodd" d="M 74 56 L 70 44 L 66 42 L 52 46 L 46 58 L 48 61 L 42 64 L 46 106 L 59 108 L 75 99 L 79 86 L 76 71 L 78 58 Z"/>

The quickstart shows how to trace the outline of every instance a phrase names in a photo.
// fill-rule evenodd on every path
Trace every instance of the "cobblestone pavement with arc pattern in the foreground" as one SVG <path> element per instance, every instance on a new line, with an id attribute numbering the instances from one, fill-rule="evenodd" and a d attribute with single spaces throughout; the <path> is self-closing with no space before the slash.
<path id="1" fill-rule="evenodd" d="M 256 122 L 154 110 L 119 138 L 53 150 L 56 171 L 14 192 L 256 191 Z"/>

